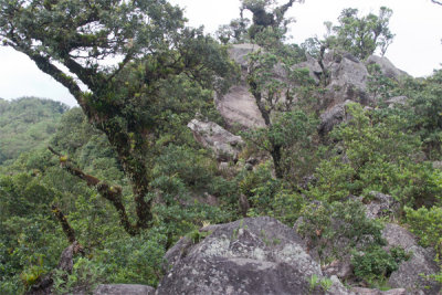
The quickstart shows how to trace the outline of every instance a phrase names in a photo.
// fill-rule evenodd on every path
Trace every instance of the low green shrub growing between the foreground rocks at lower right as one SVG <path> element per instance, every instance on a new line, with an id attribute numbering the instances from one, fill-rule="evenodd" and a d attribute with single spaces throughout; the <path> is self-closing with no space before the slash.
<path id="1" fill-rule="evenodd" d="M 364 252 L 355 253 L 351 265 L 356 277 L 369 284 L 376 281 L 383 282 L 399 268 L 402 261 L 410 257 L 401 247 L 392 247 L 389 252 L 382 247 L 369 247 Z"/>

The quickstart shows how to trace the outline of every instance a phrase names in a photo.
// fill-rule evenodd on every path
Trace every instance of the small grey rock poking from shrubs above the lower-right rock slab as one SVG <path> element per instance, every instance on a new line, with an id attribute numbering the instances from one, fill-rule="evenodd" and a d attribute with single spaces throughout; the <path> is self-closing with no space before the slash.
<path id="1" fill-rule="evenodd" d="M 369 219 L 396 214 L 400 209 L 399 202 L 389 194 L 371 191 L 370 196 L 372 200 L 366 204 L 366 215 Z"/>

